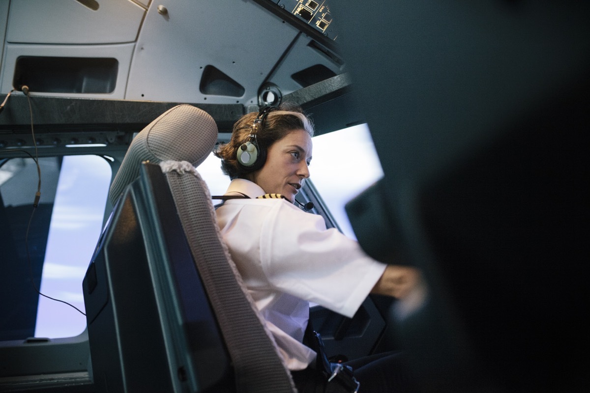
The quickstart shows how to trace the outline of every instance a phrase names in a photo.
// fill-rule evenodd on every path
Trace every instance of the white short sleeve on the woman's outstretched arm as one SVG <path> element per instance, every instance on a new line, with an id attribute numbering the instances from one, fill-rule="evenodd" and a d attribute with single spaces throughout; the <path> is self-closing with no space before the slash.
<path id="1" fill-rule="evenodd" d="M 261 267 L 271 285 L 352 317 L 385 270 L 323 217 L 276 203 L 263 223 Z"/>

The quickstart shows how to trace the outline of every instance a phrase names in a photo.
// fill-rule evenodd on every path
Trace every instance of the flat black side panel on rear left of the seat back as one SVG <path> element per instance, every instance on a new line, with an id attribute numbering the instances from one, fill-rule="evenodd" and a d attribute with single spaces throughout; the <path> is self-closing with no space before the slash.
<path id="1" fill-rule="evenodd" d="M 91 276 L 84 278 L 87 313 L 97 314 L 88 325 L 94 380 L 99 391 L 170 391 L 162 326 L 134 204 L 127 193 L 106 244 L 92 262 L 98 273 L 92 293 Z M 102 287 L 109 292 L 106 305 L 102 296 L 98 302 L 93 297 L 104 293 Z"/>

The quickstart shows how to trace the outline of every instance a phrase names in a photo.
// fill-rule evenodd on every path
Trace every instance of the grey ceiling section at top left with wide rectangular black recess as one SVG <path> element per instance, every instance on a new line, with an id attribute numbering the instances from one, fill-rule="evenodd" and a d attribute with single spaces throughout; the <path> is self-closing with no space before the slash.
<path id="1" fill-rule="evenodd" d="M 123 98 L 145 12 L 129 0 L 9 2 L 2 91 Z"/>

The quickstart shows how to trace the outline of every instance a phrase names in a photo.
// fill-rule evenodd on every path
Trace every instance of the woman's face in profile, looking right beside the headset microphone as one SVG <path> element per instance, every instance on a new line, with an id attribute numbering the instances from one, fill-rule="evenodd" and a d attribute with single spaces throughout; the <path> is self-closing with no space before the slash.
<path id="1" fill-rule="evenodd" d="M 282 194 L 294 202 L 304 179 L 309 177 L 312 137 L 303 129 L 293 130 L 273 143 L 264 166 L 250 176 L 265 193 Z"/>

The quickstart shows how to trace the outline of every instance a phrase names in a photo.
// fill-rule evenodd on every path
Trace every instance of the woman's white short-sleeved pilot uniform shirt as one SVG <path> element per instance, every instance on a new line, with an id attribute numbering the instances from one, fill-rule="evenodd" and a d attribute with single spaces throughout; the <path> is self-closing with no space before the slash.
<path id="1" fill-rule="evenodd" d="M 217 209 L 221 235 L 244 283 L 267 321 L 291 370 L 304 369 L 316 353 L 301 344 L 309 302 L 352 317 L 385 270 L 357 242 L 326 229 L 322 216 L 285 199 L 254 199 L 257 184 L 232 180 L 230 199 Z"/>

